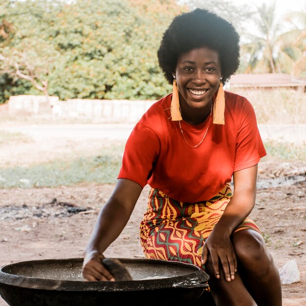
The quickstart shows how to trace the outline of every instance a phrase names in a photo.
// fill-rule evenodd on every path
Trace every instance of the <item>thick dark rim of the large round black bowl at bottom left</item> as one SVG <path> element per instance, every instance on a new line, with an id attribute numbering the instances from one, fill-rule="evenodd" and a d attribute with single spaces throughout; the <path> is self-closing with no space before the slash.
<path id="1" fill-rule="evenodd" d="M 131 258 L 117 258 L 124 262 L 147 262 L 151 261 L 158 264 L 165 265 L 179 265 L 188 266 L 194 270 L 190 274 L 183 276 L 175 276 L 161 279 L 147 279 L 135 281 L 121 281 L 121 282 L 88 282 L 88 281 L 66 281 L 66 280 L 53 280 L 25 277 L 21 275 L 9 274 L 2 271 L 15 265 L 23 265 L 26 263 L 39 263 L 39 262 L 83 262 L 83 258 L 64 258 L 64 259 L 41 259 L 32 261 L 15 262 L 4 265 L 0 268 L 0 285 L 11 285 L 31 289 L 44 289 L 44 290 L 63 290 L 63 291 L 142 291 L 162 289 L 162 288 L 175 288 L 175 287 L 192 287 L 198 284 L 203 284 L 208 281 L 208 275 L 196 265 L 185 262 L 172 262 L 157 259 L 131 259 Z M 188 277 L 187 277 L 188 276 Z M 38 284 L 39 283 L 39 284 Z M 102 284 L 102 285 L 101 285 Z"/>

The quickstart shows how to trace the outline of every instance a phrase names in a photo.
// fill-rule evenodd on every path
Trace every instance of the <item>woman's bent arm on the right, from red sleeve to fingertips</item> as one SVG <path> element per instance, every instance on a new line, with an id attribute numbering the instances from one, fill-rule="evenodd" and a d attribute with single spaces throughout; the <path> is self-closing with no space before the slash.
<path id="1" fill-rule="evenodd" d="M 202 264 L 207 261 L 210 253 L 216 278 L 220 278 L 219 262 L 221 262 L 228 282 L 235 279 L 237 271 L 237 258 L 230 236 L 255 205 L 257 165 L 234 172 L 233 178 L 234 195 L 204 243 L 202 252 Z"/>

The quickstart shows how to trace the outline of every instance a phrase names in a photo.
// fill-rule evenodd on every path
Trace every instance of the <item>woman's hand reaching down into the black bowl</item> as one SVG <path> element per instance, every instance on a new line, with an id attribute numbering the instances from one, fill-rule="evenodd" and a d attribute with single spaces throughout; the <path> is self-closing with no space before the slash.
<path id="1" fill-rule="evenodd" d="M 87 281 L 115 281 L 115 278 L 101 262 L 104 258 L 104 255 L 98 251 L 91 251 L 85 255 L 82 273 Z"/>

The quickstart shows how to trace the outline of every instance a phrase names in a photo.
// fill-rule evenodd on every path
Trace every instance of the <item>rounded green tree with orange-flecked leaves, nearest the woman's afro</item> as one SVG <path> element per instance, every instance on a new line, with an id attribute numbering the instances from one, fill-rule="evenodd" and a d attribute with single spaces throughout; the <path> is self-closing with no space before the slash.
<path id="1" fill-rule="evenodd" d="M 53 93 L 98 99 L 162 94 L 156 92 L 163 80 L 153 49 L 148 48 L 153 36 L 147 23 L 127 1 L 80 0 L 66 5 L 53 27 L 54 44 L 63 55 L 51 76 Z M 55 84 L 59 74 L 64 82 Z"/>

